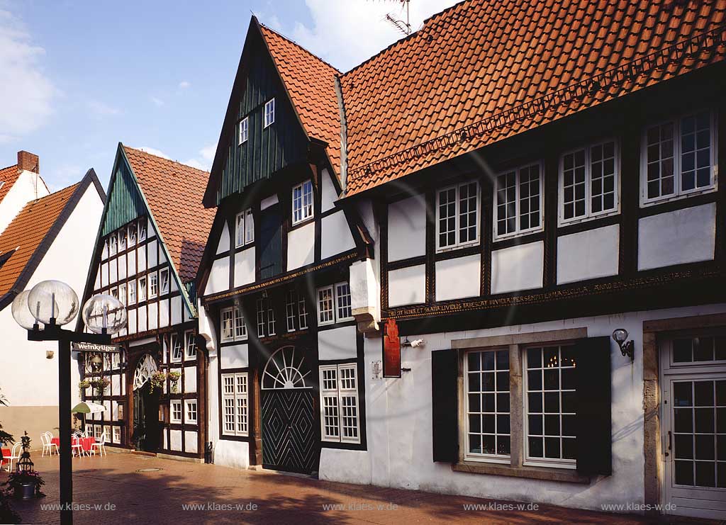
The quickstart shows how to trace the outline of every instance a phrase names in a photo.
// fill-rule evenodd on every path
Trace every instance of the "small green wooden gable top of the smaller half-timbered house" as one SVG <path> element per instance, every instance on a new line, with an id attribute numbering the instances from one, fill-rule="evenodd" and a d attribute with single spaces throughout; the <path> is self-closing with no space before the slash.
<path id="1" fill-rule="evenodd" d="M 108 202 L 101 228 L 102 237 L 146 214 L 144 198 L 134 180 L 134 175 L 131 175 L 126 159 L 121 154 L 116 157 L 115 173 L 111 179 L 113 186 L 108 191 Z"/>

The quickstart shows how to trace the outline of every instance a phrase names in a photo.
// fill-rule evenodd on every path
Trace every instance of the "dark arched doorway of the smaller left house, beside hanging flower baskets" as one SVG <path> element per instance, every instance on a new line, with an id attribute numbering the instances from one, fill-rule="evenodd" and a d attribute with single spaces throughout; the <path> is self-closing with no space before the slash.
<path id="1" fill-rule="evenodd" d="M 159 447 L 159 390 L 151 391 L 151 376 L 158 371 L 150 354 L 142 355 L 134 370 L 134 431 L 136 450 L 155 452 Z"/>

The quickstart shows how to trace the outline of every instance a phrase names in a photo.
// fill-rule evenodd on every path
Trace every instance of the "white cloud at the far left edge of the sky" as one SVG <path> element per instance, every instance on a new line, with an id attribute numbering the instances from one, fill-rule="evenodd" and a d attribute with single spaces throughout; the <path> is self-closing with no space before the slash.
<path id="1" fill-rule="evenodd" d="M 35 131 L 51 115 L 56 90 L 41 67 L 44 56 L 23 22 L 0 9 L 0 141 Z"/>

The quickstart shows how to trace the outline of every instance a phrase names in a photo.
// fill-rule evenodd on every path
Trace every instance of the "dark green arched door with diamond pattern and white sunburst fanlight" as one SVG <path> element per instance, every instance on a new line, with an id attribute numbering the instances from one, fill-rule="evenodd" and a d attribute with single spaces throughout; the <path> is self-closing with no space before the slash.
<path id="1" fill-rule="evenodd" d="M 282 347 L 274 352 L 261 387 L 262 466 L 304 474 L 317 471 L 315 392 L 303 351 Z"/>

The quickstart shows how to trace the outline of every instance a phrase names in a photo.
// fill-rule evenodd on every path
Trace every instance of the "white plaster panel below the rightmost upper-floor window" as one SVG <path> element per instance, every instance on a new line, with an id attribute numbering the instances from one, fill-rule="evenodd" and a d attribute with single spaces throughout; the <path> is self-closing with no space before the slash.
<path id="1" fill-rule="evenodd" d="M 638 270 L 711 260 L 716 243 L 716 203 L 638 221 Z"/>

